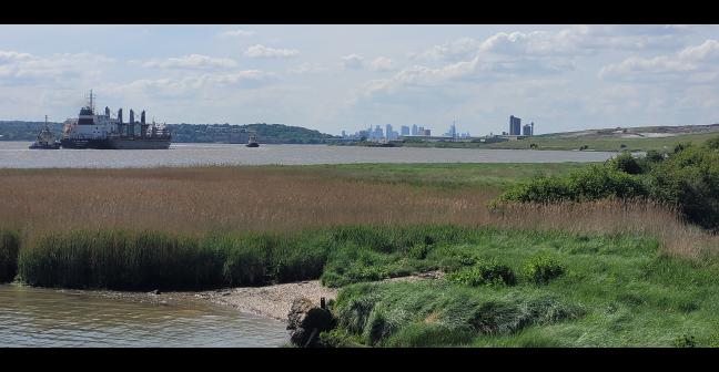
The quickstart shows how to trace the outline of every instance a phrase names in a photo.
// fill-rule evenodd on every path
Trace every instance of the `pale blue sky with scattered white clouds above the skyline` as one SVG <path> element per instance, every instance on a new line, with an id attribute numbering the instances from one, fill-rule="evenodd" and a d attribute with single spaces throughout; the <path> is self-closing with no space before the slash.
<path id="1" fill-rule="evenodd" d="M 718 25 L 0 25 L 0 120 L 485 135 L 719 122 Z M 125 114 L 126 117 L 128 114 Z"/>

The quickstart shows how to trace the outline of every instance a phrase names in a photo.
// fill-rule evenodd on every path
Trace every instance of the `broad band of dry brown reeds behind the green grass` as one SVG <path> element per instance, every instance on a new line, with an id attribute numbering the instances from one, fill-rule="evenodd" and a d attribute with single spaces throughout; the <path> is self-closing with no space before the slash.
<path id="1" fill-rule="evenodd" d="M 41 169 L 0 172 L 0 227 L 23 236 L 125 229 L 296 231 L 346 225 L 550 229 L 646 234 L 665 251 L 699 257 L 719 238 L 651 202 L 488 207 L 494 188 L 442 189 L 332 177 L 292 167 Z"/>

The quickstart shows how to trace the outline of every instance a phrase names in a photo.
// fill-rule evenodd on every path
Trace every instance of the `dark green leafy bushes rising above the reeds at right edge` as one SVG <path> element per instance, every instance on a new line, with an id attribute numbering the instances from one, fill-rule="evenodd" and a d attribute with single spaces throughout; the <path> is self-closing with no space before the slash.
<path id="1" fill-rule="evenodd" d="M 702 146 L 680 143 L 644 159 L 621 154 L 567 176 L 540 177 L 507 189 L 495 202 L 556 203 L 649 198 L 677 207 L 688 221 L 719 231 L 719 137 Z"/>

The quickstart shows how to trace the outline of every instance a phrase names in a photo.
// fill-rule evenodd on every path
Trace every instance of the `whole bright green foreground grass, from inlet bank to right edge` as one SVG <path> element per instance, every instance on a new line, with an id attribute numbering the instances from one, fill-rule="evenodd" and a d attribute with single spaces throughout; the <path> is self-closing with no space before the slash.
<path id="1" fill-rule="evenodd" d="M 33 286 L 121 290 L 322 278 L 342 288 L 331 302 L 340 329 L 322 338 L 332 345 L 716 344 L 719 261 L 659 248 L 638 235 L 453 226 L 200 237 L 101 230 L 23 239 L 18 266 Z M 436 269 L 460 280 L 377 282 Z"/>

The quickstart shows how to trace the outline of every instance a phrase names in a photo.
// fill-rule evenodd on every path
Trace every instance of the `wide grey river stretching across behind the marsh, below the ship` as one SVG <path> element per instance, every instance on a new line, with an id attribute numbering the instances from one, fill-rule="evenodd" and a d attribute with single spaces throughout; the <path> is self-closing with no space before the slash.
<path id="1" fill-rule="evenodd" d="M 125 168 L 190 165 L 346 163 L 602 162 L 616 153 L 529 149 L 360 147 L 326 145 L 172 144 L 169 149 L 29 149 L 0 142 L 0 168 Z"/>

